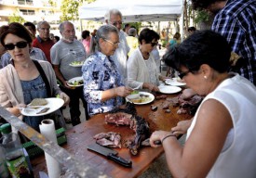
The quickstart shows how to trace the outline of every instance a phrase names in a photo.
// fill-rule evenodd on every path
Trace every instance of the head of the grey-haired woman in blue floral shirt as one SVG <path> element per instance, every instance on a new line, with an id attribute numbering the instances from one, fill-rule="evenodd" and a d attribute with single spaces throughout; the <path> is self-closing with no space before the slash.
<path id="1" fill-rule="evenodd" d="M 114 25 L 102 25 L 96 33 L 96 44 L 104 55 L 114 55 L 119 44 L 117 28 Z"/>

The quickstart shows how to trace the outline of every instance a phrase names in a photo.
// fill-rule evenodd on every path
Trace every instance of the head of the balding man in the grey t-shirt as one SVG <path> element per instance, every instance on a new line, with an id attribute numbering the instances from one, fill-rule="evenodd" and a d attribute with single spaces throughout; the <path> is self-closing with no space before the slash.
<path id="1" fill-rule="evenodd" d="M 62 36 L 62 40 L 67 43 L 73 43 L 75 39 L 75 31 L 74 31 L 74 25 L 70 21 L 63 21 L 60 24 L 60 32 Z"/>

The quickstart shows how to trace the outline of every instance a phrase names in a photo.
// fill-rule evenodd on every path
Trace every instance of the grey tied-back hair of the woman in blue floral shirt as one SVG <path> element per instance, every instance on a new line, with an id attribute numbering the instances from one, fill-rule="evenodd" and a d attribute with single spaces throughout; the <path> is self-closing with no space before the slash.
<path id="1" fill-rule="evenodd" d="M 118 35 L 118 30 L 114 25 L 102 25 L 98 31 L 96 32 L 96 45 L 98 49 L 101 50 L 101 47 L 99 45 L 100 39 L 109 40 L 109 34 L 111 32 L 115 32 Z"/>

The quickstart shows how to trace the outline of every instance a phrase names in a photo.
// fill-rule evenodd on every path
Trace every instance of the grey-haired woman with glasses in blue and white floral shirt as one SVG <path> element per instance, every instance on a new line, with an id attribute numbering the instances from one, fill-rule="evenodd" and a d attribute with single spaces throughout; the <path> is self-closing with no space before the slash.
<path id="1" fill-rule="evenodd" d="M 82 67 L 90 116 L 119 107 L 123 104 L 122 97 L 132 92 L 121 83 L 121 75 L 111 57 L 119 44 L 115 26 L 101 26 L 96 33 L 96 43 L 99 51 L 88 57 Z"/>

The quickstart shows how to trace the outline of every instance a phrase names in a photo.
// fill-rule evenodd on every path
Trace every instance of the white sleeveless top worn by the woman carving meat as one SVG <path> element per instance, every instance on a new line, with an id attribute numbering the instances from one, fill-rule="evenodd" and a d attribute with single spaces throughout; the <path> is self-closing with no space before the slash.
<path id="1" fill-rule="evenodd" d="M 206 101 L 213 98 L 228 109 L 234 128 L 229 132 L 222 152 L 211 168 L 212 178 L 256 177 L 256 87 L 236 74 L 223 81 Z M 202 103 L 203 103 L 202 102 Z M 197 109 L 200 109 L 200 107 Z M 187 138 L 195 126 L 195 118 L 188 130 Z"/>

